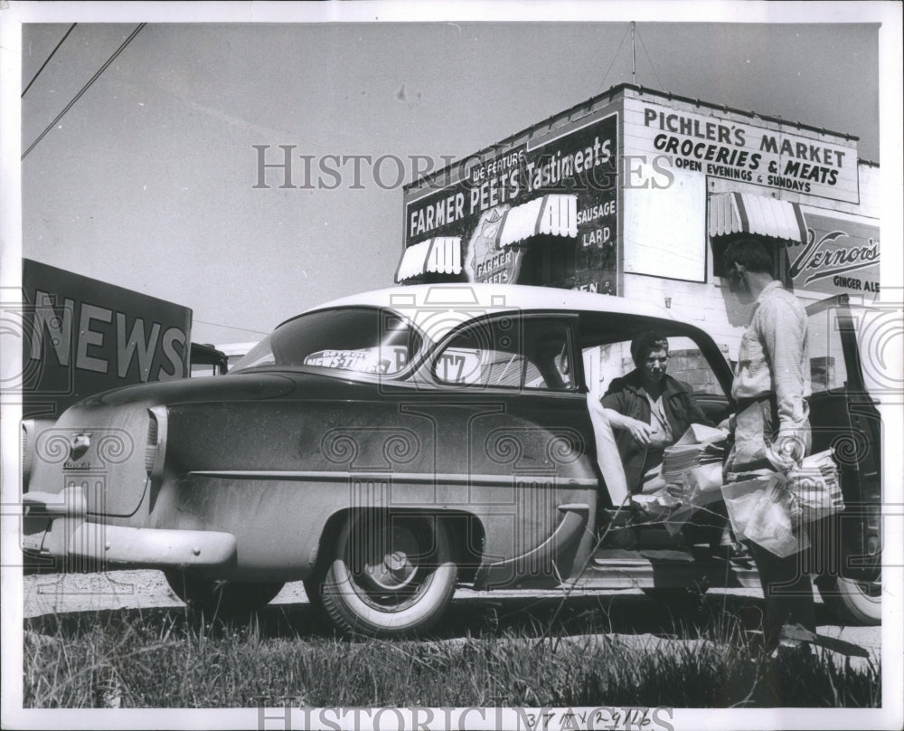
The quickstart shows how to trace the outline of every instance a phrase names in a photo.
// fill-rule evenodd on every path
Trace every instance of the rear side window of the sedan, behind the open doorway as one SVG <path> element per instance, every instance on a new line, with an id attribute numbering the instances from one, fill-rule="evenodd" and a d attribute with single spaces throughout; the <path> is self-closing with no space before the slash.
<path id="1" fill-rule="evenodd" d="M 485 320 L 453 337 L 433 364 L 443 384 L 572 391 L 568 322 L 557 318 Z"/>

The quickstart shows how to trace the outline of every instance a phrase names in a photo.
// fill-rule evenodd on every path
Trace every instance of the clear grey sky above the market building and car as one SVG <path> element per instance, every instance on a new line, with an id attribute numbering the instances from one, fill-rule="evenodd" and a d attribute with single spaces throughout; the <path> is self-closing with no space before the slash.
<path id="1" fill-rule="evenodd" d="M 152 22 L 25 157 L 22 253 L 191 307 L 193 339 L 222 344 L 391 285 L 410 156 L 465 157 L 619 83 L 847 132 L 878 161 L 879 25 L 762 22 L 780 5 L 638 19 L 634 56 L 613 3 L 569 5 L 569 22 Z M 590 8 L 626 20 L 580 20 Z M 59 15 L 23 26 L 23 89 L 78 20 Z M 74 28 L 24 95 L 23 149 L 141 19 Z M 315 174 L 329 155 L 391 157 L 357 181 L 339 166 L 334 189 L 273 173 L 261 189 L 255 145 L 268 162 L 296 146 Z"/>

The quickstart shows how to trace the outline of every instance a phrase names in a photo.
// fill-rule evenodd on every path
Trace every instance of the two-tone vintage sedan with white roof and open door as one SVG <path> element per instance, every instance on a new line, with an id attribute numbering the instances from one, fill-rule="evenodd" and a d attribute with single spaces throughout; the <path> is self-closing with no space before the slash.
<path id="1" fill-rule="evenodd" d="M 811 568 L 847 621 L 879 622 L 879 417 L 844 303 L 814 318 L 815 449 L 835 447 L 847 508 L 812 531 L 825 550 Z M 24 549 L 75 570 L 159 568 L 223 614 L 304 580 L 338 628 L 385 637 L 428 630 L 459 585 L 758 587 L 752 564 L 720 553 L 718 511 L 666 530 L 620 498 L 621 464 L 598 449 L 590 392 L 649 329 L 725 418 L 725 356 L 649 303 L 421 285 L 311 309 L 228 375 L 63 413 L 32 445 Z"/>

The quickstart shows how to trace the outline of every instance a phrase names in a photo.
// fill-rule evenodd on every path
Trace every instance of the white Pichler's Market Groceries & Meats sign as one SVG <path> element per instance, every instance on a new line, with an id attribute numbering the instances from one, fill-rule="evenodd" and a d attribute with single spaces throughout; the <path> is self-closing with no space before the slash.
<path id="1" fill-rule="evenodd" d="M 631 109 L 632 113 L 628 112 Z M 673 166 L 726 180 L 858 203 L 856 141 L 791 133 L 640 100 L 626 100 L 626 138 Z M 764 122 L 764 125 L 766 123 Z"/>

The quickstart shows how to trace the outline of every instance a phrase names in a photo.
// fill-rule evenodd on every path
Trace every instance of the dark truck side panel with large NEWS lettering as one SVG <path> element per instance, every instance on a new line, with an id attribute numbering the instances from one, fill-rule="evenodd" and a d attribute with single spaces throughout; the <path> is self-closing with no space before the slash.
<path id="1" fill-rule="evenodd" d="M 29 259 L 22 283 L 26 416 L 188 375 L 191 309 Z"/>

